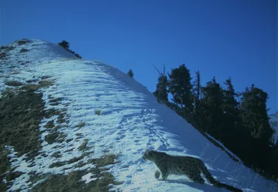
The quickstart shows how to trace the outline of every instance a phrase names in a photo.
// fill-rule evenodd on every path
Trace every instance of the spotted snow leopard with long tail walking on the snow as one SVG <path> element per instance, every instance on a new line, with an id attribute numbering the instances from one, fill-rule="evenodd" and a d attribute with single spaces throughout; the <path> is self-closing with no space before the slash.
<path id="1" fill-rule="evenodd" d="M 201 177 L 201 173 L 204 177 L 219 188 L 228 189 L 229 191 L 242 191 L 234 186 L 218 182 L 213 178 L 211 173 L 208 172 L 204 162 L 200 159 L 190 156 L 172 156 L 165 152 L 158 152 L 154 150 L 147 150 L 144 152 L 142 159 L 152 161 L 157 170 L 154 173 L 154 177 L 158 179 L 161 175 L 163 181 L 165 181 L 168 175 L 187 175 L 193 182 L 204 184 L 204 179 Z"/>

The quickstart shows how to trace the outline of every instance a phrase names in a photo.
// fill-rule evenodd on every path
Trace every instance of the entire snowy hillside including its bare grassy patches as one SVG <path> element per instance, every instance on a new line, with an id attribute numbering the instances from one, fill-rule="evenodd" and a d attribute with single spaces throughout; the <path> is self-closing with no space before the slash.
<path id="1" fill-rule="evenodd" d="M 1 47 L 0 62 L 0 189 L 227 191 L 183 175 L 156 179 L 154 163 L 142 159 L 156 150 L 197 157 L 243 191 L 278 190 L 115 67 L 27 39 Z"/>

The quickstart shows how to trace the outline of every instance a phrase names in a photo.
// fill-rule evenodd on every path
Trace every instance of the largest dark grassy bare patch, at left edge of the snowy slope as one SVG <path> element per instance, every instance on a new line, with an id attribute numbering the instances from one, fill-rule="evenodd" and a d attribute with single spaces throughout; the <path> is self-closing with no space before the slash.
<path id="1" fill-rule="evenodd" d="M 7 190 L 3 179 L 13 179 L 20 173 L 10 173 L 5 145 L 13 146 L 17 157 L 26 154 L 26 161 L 38 155 L 41 148 L 40 121 L 44 118 L 42 94 L 30 90 L 11 89 L 3 91 L 0 99 L 0 191 Z M 8 175 L 7 175 L 8 174 Z"/>

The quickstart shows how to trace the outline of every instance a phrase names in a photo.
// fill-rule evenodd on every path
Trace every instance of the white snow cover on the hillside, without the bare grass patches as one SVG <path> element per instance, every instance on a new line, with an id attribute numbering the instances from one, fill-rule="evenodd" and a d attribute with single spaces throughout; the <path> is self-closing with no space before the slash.
<path id="1" fill-rule="evenodd" d="M 94 167 L 93 163 L 76 166 L 81 161 L 99 158 L 104 151 L 117 154 L 117 163 L 109 165 L 108 172 L 117 181 L 115 191 L 226 191 L 211 184 L 197 184 L 187 177 L 170 176 L 166 182 L 154 178 L 154 165 L 142 160 L 147 149 L 160 150 L 169 154 L 191 155 L 202 159 L 212 175 L 220 182 L 236 186 L 243 191 L 275 191 L 274 182 L 263 179 L 240 163 L 231 160 L 225 152 L 215 147 L 194 129 L 186 120 L 174 113 L 140 83 L 114 67 L 94 61 L 76 59 L 58 45 L 41 40 L 16 46 L 6 59 L 1 59 L 1 91 L 8 80 L 26 83 L 28 80 L 50 77 L 54 85 L 41 88 L 46 109 L 66 110 L 66 122 L 59 131 L 65 140 L 47 143 L 49 131 L 44 126 L 49 119 L 40 122 L 42 149 L 35 160 L 28 161 L 24 156 L 17 158 L 11 150 L 10 162 L 14 171 L 24 173 L 13 181 L 10 191 L 28 191 L 31 183 L 28 173 L 68 174 L 73 170 Z M 25 48 L 29 51 L 19 53 Z M 19 65 L 19 61 L 29 61 Z M 51 105 L 49 98 L 62 98 L 58 105 Z M 97 115 L 95 111 L 99 111 Z M 50 120 L 56 120 L 54 115 Z M 81 122 L 85 125 L 77 128 Z M 56 121 L 55 123 L 56 124 Z M 80 157 L 83 151 L 79 146 L 87 141 L 87 154 L 74 163 L 64 166 L 49 165 Z M 236 142 L 236 141 L 235 141 Z M 69 150 L 70 149 L 70 150 Z M 60 152 L 59 157 L 50 154 Z M 43 158 L 42 158 L 43 157 Z M 88 175 L 87 175 L 88 176 Z M 83 177 L 87 182 L 94 178 Z"/>

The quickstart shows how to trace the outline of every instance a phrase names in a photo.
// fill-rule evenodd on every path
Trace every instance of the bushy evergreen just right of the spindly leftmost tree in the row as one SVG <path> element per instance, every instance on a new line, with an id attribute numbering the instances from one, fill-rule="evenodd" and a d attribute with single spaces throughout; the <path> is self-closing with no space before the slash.
<path id="1" fill-rule="evenodd" d="M 173 95 L 173 100 L 188 112 L 193 110 L 191 79 L 190 72 L 184 64 L 172 69 L 169 74 L 169 91 Z"/>

